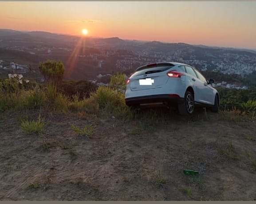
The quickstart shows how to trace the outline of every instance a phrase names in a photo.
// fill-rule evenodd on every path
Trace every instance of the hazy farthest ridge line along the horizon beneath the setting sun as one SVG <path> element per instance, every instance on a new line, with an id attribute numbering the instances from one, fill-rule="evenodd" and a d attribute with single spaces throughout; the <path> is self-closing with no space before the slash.
<path id="1" fill-rule="evenodd" d="M 50 32 L 44 31 L 17 31 L 17 30 L 10 30 L 10 29 L 0 29 L 0 38 L 15 38 L 20 40 L 27 40 L 28 38 L 40 38 L 40 39 L 51 39 L 51 40 L 59 40 L 59 41 L 75 41 L 81 39 L 79 36 L 74 35 L 65 35 L 65 34 L 55 34 Z M 178 50 L 178 49 L 187 49 L 187 48 L 201 48 L 201 49 L 221 49 L 221 50 L 230 50 L 230 51 L 244 51 L 248 53 L 256 53 L 256 50 L 253 49 L 235 49 L 235 48 L 226 48 L 226 47 L 216 47 L 216 46 L 206 46 L 206 45 L 189 45 L 186 43 L 167 43 L 167 42 L 160 42 L 160 41 L 137 41 L 137 40 L 123 40 L 118 37 L 113 38 L 96 38 L 96 37 L 83 37 L 83 40 L 88 45 L 94 45 L 95 43 L 105 43 L 106 45 L 111 45 L 111 47 L 126 47 L 127 49 L 134 48 L 136 50 L 143 50 L 143 49 L 150 49 L 152 52 L 166 52 L 171 50 Z M 134 47 L 135 45 L 135 47 Z M 139 45 L 139 47 L 136 47 Z M 213 51 L 214 52 L 214 51 Z"/>

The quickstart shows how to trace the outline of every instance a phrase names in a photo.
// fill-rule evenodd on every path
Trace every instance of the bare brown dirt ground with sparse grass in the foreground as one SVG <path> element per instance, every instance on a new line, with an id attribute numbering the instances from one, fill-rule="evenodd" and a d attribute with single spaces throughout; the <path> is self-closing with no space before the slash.
<path id="1" fill-rule="evenodd" d="M 0 200 L 256 200 L 253 122 L 173 114 L 151 130 L 53 113 L 39 136 L 23 133 L 24 114 L 0 113 Z M 95 133 L 78 136 L 72 124 Z"/>

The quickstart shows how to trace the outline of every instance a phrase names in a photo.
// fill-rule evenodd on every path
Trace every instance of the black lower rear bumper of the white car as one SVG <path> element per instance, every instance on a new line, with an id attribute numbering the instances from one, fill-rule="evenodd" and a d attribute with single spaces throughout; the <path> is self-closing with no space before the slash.
<path id="1" fill-rule="evenodd" d="M 140 104 L 152 104 L 152 103 L 178 104 L 178 103 L 184 102 L 184 98 L 181 98 L 177 94 L 157 94 L 157 95 L 126 98 L 125 102 L 127 106 L 138 106 Z"/>

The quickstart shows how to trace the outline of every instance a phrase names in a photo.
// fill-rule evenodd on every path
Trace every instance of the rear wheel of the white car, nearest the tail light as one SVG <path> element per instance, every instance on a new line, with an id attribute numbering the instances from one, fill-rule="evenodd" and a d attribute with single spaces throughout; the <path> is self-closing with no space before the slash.
<path id="1" fill-rule="evenodd" d="M 181 115 L 191 115 L 195 110 L 194 96 L 190 91 L 186 91 L 184 102 L 178 104 L 179 113 Z"/>

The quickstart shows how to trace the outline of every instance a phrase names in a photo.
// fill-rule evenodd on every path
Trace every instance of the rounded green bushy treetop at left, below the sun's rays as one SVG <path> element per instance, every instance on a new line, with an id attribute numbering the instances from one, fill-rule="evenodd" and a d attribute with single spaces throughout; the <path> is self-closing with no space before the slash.
<path id="1" fill-rule="evenodd" d="M 63 79 L 65 68 L 60 60 L 47 60 L 39 63 L 39 71 L 43 75 L 46 83 L 58 85 Z"/>

